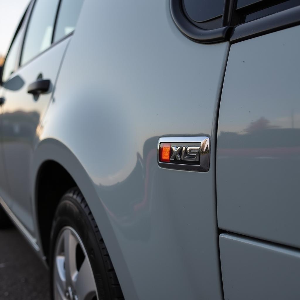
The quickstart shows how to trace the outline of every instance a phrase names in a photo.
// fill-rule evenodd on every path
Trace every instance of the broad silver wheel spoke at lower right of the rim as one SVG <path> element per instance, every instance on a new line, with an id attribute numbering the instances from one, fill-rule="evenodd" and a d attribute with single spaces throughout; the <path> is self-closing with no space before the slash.
<path id="1" fill-rule="evenodd" d="M 75 290 L 80 300 L 90 300 L 96 295 L 96 284 L 88 259 L 85 258 L 78 272 Z"/>

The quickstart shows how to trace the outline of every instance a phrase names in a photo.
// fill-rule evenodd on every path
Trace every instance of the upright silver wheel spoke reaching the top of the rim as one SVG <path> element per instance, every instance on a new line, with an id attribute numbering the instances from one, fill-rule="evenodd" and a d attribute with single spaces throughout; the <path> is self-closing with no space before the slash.
<path id="1" fill-rule="evenodd" d="M 76 246 L 78 242 L 70 229 L 64 231 L 65 278 L 67 286 L 73 286 L 76 269 Z"/>

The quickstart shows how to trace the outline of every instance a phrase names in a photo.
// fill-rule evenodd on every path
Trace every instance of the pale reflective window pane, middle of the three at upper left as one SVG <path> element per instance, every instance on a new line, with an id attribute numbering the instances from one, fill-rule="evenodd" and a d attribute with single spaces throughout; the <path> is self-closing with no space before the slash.
<path id="1" fill-rule="evenodd" d="M 51 45 L 58 0 L 36 0 L 27 27 L 21 64 Z"/>

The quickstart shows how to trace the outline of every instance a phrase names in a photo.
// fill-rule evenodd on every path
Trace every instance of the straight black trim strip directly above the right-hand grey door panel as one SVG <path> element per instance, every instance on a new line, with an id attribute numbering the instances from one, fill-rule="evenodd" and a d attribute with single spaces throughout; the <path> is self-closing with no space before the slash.
<path id="1" fill-rule="evenodd" d="M 271 33 L 300 24 L 300 6 L 273 13 L 253 21 L 236 26 L 232 31 L 230 43 L 255 38 L 260 35 Z"/>

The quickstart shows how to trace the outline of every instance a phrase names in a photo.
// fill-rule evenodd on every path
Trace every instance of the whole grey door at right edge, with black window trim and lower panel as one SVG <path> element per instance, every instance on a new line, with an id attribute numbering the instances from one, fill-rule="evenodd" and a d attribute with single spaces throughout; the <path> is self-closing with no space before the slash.
<path id="1" fill-rule="evenodd" d="M 219 111 L 224 296 L 299 299 L 300 6 L 252 2 L 238 1 Z"/>

